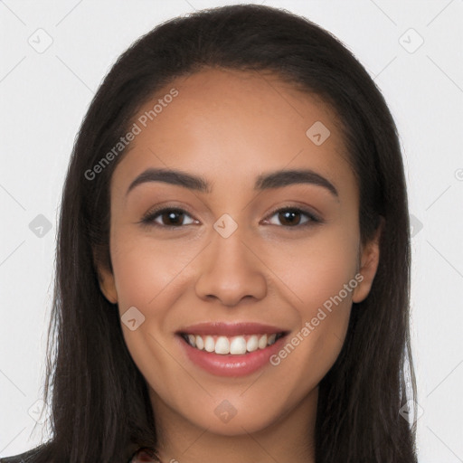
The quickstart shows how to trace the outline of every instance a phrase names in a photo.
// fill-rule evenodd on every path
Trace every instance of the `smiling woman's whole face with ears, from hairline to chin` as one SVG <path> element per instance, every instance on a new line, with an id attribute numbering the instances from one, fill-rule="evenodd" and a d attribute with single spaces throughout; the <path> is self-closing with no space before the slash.
<path id="1" fill-rule="evenodd" d="M 133 122 L 101 288 L 156 419 L 226 435 L 303 419 L 378 262 L 334 113 L 275 76 L 207 70 Z"/>

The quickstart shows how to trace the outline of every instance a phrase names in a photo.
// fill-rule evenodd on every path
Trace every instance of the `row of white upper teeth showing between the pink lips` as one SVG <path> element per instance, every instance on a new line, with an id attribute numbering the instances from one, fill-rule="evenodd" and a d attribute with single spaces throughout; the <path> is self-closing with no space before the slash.
<path id="1" fill-rule="evenodd" d="M 247 339 L 246 339 L 247 338 Z M 277 334 L 271 335 L 239 335 L 239 336 L 200 336 L 186 335 L 185 339 L 189 345 L 199 350 L 214 352 L 215 354 L 246 354 L 258 349 L 265 349 L 268 345 L 275 343 Z"/>

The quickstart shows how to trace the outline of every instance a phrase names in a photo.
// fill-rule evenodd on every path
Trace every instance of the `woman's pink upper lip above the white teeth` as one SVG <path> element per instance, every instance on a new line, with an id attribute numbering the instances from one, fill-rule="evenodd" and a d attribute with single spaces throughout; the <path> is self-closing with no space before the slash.
<path id="1" fill-rule="evenodd" d="M 196 325 L 185 326 L 177 331 L 186 335 L 265 335 L 272 333 L 286 333 L 287 330 L 278 326 L 264 325 L 261 323 L 224 323 L 224 322 L 207 322 Z"/>

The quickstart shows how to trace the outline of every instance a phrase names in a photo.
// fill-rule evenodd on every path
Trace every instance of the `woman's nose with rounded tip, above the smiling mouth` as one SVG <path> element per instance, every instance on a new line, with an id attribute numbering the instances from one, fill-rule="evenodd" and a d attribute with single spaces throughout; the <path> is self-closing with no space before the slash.
<path id="1" fill-rule="evenodd" d="M 195 291 L 199 298 L 216 298 L 223 306 L 233 307 L 244 298 L 264 298 L 267 294 L 265 264 L 259 251 L 241 236 L 238 227 L 223 238 L 213 232 L 212 242 L 204 250 Z"/>

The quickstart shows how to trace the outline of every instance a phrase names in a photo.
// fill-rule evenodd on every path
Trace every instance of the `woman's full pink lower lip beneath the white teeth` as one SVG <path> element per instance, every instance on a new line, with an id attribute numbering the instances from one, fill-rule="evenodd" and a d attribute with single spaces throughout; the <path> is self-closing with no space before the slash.
<path id="1" fill-rule="evenodd" d="M 265 349 L 258 349 L 249 354 L 215 354 L 200 351 L 189 345 L 182 336 L 178 336 L 188 358 L 208 373 L 218 376 L 246 376 L 257 372 L 265 364 L 269 364 L 271 355 L 276 354 L 286 336 L 280 337 L 274 344 Z"/>

